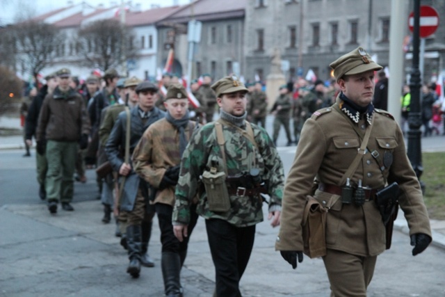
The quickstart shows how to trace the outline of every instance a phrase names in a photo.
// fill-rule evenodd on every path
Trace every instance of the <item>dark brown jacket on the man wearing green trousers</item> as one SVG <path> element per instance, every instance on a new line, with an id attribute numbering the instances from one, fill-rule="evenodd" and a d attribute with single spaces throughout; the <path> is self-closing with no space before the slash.
<path id="1" fill-rule="evenodd" d="M 65 95 L 57 87 L 44 98 L 36 140 L 79 141 L 81 134 L 90 134 L 83 97 L 72 88 Z"/>

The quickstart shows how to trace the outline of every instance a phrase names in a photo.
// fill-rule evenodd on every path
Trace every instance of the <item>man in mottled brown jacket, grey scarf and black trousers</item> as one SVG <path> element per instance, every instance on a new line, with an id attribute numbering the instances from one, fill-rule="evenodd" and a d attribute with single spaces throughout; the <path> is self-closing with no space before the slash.
<path id="1" fill-rule="evenodd" d="M 156 191 L 154 206 L 161 229 L 161 268 L 165 296 L 181 296 L 180 273 L 187 246 L 197 221 L 196 204 L 191 206 L 188 236 L 180 242 L 173 233 L 172 212 L 179 163 L 197 123 L 188 117 L 188 96 L 181 84 L 170 85 L 165 99 L 165 118 L 145 130 L 133 152 L 134 170 Z"/>

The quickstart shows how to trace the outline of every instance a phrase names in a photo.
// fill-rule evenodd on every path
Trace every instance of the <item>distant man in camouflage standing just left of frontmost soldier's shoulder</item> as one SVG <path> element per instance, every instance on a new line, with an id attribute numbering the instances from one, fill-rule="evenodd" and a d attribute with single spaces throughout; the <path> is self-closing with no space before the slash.
<path id="1" fill-rule="evenodd" d="M 292 145 L 291 128 L 289 127 L 292 108 L 291 100 L 287 85 L 280 86 L 280 95 L 277 97 L 271 110 L 272 114 L 275 115 L 275 119 L 273 120 L 273 143 L 275 143 L 275 145 L 277 145 L 281 126 L 284 127 L 284 131 L 286 132 L 286 145 Z"/>

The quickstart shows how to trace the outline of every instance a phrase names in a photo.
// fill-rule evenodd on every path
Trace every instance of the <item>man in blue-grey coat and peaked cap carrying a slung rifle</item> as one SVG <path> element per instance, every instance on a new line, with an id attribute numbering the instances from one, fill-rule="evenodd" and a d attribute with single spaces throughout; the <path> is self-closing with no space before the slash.
<path id="1" fill-rule="evenodd" d="M 122 195 L 116 207 L 127 219 L 124 223 L 127 232 L 127 246 L 129 266 L 127 273 L 138 278 L 140 266 L 154 266 L 152 259 L 147 255 L 148 242 L 152 233 L 152 219 L 154 207 L 148 203 L 147 184 L 140 179 L 133 170 L 132 162 L 124 160 L 121 151 L 125 148 L 126 134 L 130 134 L 129 152 L 138 144 L 144 131 L 164 117 L 165 113 L 154 106 L 158 88 L 149 81 L 143 81 L 136 86 L 139 97 L 137 106 L 130 111 L 130 131 L 127 131 L 127 113 L 122 111 L 111 130 L 106 141 L 105 152 L 113 170 L 119 172 L 120 179 L 125 177 Z"/>

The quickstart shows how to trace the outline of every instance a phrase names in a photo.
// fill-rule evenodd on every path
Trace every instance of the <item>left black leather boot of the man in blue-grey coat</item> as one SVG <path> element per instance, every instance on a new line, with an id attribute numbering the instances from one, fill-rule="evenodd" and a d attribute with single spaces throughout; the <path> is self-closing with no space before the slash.
<path id="1" fill-rule="evenodd" d="M 127 227 L 128 257 L 130 259 L 127 273 L 133 278 L 139 278 L 140 273 L 140 225 L 130 225 Z"/>

